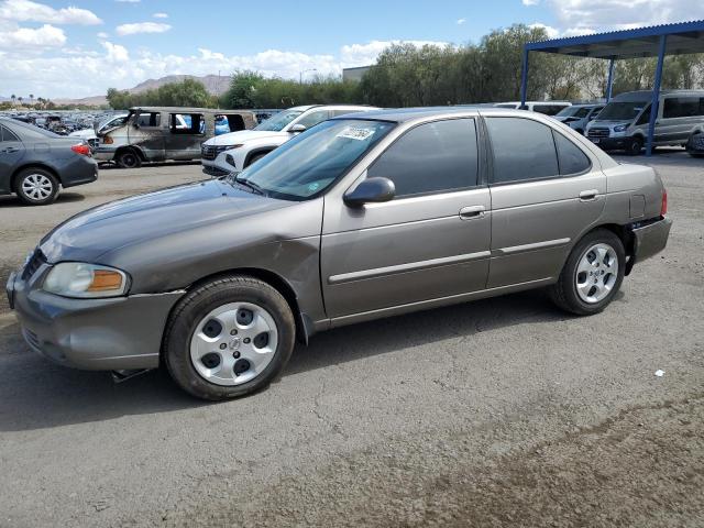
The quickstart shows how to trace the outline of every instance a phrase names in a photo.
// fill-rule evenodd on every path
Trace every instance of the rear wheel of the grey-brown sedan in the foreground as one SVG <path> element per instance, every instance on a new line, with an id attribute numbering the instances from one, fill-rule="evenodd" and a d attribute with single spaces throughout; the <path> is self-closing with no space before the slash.
<path id="1" fill-rule="evenodd" d="M 596 256 L 596 260 L 591 261 L 591 256 Z M 571 314 L 598 314 L 614 299 L 625 272 L 623 242 L 613 232 L 597 229 L 584 235 L 572 249 L 558 282 L 549 289 L 550 297 L 559 308 Z"/>

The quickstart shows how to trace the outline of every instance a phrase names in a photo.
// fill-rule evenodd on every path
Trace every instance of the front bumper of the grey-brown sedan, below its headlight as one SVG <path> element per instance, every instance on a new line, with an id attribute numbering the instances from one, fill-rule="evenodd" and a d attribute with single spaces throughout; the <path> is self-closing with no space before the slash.
<path id="1" fill-rule="evenodd" d="M 184 292 L 70 299 L 38 288 L 51 265 L 12 273 L 6 286 L 32 350 L 62 365 L 92 371 L 158 366 L 166 319 Z"/>

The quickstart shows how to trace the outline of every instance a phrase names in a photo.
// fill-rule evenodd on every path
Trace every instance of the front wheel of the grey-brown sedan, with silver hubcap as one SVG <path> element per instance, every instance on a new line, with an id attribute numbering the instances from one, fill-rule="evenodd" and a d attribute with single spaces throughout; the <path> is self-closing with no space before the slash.
<path id="1" fill-rule="evenodd" d="M 233 275 L 206 283 L 178 302 L 162 356 L 184 391 L 222 400 L 267 386 L 288 362 L 295 338 L 286 299 L 262 280 Z"/>

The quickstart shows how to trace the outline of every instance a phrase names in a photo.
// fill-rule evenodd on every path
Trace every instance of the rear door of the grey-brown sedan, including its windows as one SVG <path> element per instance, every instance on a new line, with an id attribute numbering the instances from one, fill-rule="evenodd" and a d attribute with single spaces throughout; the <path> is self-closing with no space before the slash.
<path id="1" fill-rule="evenodd" d="M 492 260 L 488 287 L 559 275 L 606 201 L 606 176 L 576 142 L 529 118 L 488 117 Z"/>

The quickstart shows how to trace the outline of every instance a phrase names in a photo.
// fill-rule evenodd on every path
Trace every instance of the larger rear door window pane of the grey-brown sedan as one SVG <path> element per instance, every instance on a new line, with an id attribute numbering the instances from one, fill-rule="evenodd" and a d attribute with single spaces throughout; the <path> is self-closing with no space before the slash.
<path id="1" fill-rule="evenodd" d="M 494 150 L 494 184 L 559 176 L 552 130 L 520 118 L 488 118 Z"/>

